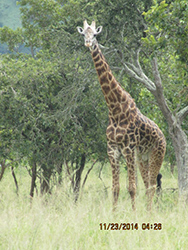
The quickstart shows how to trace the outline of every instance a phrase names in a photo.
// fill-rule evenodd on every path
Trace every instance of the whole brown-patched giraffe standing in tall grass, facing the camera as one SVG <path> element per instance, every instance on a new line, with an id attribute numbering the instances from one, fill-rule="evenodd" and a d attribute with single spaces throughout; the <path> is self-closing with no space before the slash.
<path id="1" fill-rule="evenodd" d="M 126 159 L 128 190 L 132 209 L 136 209 L 136 164 L 139 166 L 146 187 L 147 209 L 151 210 L 156 189 L 156 179 L 166 151 L 166 141 L 159 127 L 144 116 L 135 101 L 112 74 L 96 39 L 102 26 L 96 28 L 95 21 L 84 27 L 77 27 L 84 36 L 85 46 L 91 51 L 98 79 L 109 110 L 109 124 L 106 130 L 107 153 L 112 169 L 113 208 L 119 197 L 119 158 Z"/>

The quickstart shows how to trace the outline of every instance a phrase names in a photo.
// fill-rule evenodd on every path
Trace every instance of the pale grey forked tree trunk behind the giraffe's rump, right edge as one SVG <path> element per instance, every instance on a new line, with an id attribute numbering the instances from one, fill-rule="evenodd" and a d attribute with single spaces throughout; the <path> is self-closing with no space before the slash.
<path id="1" fill-rule="evenodd" d="M 163 94 L 162 82 L 156 59 L 153 61 L 153 72 L 156 85 L 156 90 L 153 91 L 153 95 L 155 96 L 158 106 L 167 120 L 169 135 L 172 139 L 175 151 L 176 164 L 178 168 L 179 197 L 180 199 L 188 202 L 188 138 L 181 127 L 183 117 L 187 114 L 187 108 L 185 108 L 184 111 L 181 110 L 175 116 L 173 115 Z"/>

